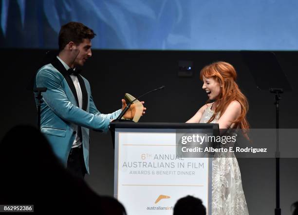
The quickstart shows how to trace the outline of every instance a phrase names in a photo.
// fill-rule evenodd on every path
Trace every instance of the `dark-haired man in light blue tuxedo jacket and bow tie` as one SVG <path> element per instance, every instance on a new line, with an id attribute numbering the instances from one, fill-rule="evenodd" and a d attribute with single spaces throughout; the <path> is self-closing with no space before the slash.
<path id="1" fill-rule="evenodd" d="M 79 173 L 74 174 L 80 177 L 82 173 L 83 178 L 85 173 L 89 174 L 89 129 L 105 132 L 111 120 L 121 113 L 120 109 L 112 114 L 101 114 L 94 105 L 89 82 L 77 69 L 72 69 L 83 66 L 92 56 L 94 35 L 93 30 L 81 23 L 70 22 L 62 26 L 58 56 L 51 64 L 42 66 L 35 79 L 35 87 L 47 87 L 42 93 L 41 132 L 63 164 L 71 171 L 75 168 L 77 172 L 79 168 Z M 122 104 L 126 106 L 124 99 Z M 125 117 L 133 117 L 130 112 Z M 72 161 L 71 156 L 75 156 Z M 72 167 L 70 162 L 74 159 L 81 159 L 81 164 Z"/>

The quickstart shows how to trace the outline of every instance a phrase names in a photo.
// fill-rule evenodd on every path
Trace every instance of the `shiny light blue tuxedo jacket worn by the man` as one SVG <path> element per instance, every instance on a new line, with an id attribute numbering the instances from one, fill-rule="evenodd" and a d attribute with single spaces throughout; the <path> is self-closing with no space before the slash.
<path id="1" fill-rule="evenodd" d="M 121 109 L 112 114 L 101 114 L 93 102 L 89 82 L 81 75 L 77 77 L 83 97 L 82 109 L 78 107 L 75 85 L 57 58 L 37 71 L 34 85 L 48 88 L 42 93 L 41 132 L 50 142 L 56 156 L 66 166 L 75 140 L 74 125 L 80 126 L 84 160 L 89 174 L 89 129 L 107 132 L 111 119 L 119 116 Z M 37 104 L 37 99 L 35 101 Z"/>

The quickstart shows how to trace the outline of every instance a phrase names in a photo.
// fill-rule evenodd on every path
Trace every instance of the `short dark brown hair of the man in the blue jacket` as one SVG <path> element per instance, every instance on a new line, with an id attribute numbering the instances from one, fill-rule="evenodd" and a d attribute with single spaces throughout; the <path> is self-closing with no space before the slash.
<path id="1" fill-rule="evenodd" d="M 63 25 L 60 29 L 58 37 L 59 51 L 63 50 L 71 41 L 73 41 L 75 45 L 79 45 L 83 42 L 83 39 L 93 39 L 95 35 L 93 30 L 84 24 L 79 22 L 69 22 Z"/>

